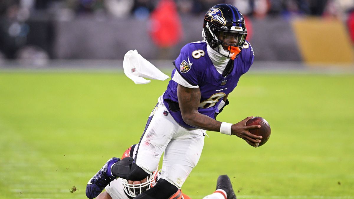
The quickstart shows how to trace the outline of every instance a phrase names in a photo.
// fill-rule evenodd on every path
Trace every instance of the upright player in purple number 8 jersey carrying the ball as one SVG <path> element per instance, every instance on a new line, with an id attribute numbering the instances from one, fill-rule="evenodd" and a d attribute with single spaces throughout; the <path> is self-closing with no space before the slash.
<path id="1" fill-rule="evenodd" d="M 258 146 L 262 137 L 249 130 L 260 126 L 246 126 L 251 117 L 236 124 L 215 119 L 228 104 L 227 97 L 240 76 L 253 63 L 254 53 L 246 35 L 244 17 L 235 6 L 218 4 L 207 11 L 204 41 L 185 45 L 173 62 L 172 80 L 149 115 L 135 157 L 109 159 L 87 183 L 87 197 L 95 198 L 116 177 L 131 181 L 146 178 L 164 152 L 156 186 L 136 199 L 170 198 L 198 163 L 207 130 L 236 135 Z"/>

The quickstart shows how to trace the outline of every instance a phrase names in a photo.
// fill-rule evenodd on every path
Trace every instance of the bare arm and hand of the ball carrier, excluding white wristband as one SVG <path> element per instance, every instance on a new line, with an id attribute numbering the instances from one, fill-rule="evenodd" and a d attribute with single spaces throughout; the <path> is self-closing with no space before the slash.
<path id="1" fill-rule="evenodd" d="M 200 89 L 187 88 L 178 84 L 177 97 L 179 102 L 179 108 L 183 121 L 188 125 L 204 129 L 208 131 L 220 132 L 221 122 L 210 118 L 207 115 L 198 112 L 198 106 L 200 103 Z M 226 99 L 225 99 L 226 100 Z M 259 125 L 246 126 L 246 121 L 251 117 L 240 121 L 239 123 L 231 126 L 231 134 L 236 135 L 244 139 L 251 146 L 255 146 L 256 143 L 261 142 L 262 136 L 256 136 L 250 133 L 250 129 L 258 129 Z"/>

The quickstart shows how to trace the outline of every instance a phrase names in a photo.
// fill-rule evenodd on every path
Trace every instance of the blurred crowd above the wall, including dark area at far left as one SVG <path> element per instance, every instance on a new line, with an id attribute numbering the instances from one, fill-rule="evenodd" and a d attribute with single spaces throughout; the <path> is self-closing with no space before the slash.
<path id="1" fill-rule="evenodd" d="M 146 20 L 160 0 L 6 0 L 0 1 L 0 59 L 52 57 L 52 22 L 91 15 Z M 248 17 L 322 16 L 354 27 L 353 0 L 173 0 L 179 15 L 204 15 L 213 5 L 233 4 Z M 32 19 L 32 20 L 30 20 Z M 40 21 L 40 25 L 37 23 Z M 42 29 L 44 35 L 31 34 Z M 354 33 L 352 33 L 354 40 Z M 36 44 L 36 45 L 34 45 Z M 40 47 L 39 47 L 40 46 Z"/>

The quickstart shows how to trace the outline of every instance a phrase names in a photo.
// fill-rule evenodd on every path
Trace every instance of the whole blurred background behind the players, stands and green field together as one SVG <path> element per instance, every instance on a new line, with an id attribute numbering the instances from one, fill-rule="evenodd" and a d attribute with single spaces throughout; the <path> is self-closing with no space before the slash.
<path id="1" fill-rule="evenodd" d="M 241 199 L 354 198 L 353 0 L 0 1 L 0 198 L 84 198 L 167 84 L 133 84 L 124 54 L 170 75 L 218 3 L 244 14 L 255 51 L 218 119 L 262 116 L 272 136 L 254 149 L 208 133 L 183 191 L 202 198 L 228 174 Z"/>

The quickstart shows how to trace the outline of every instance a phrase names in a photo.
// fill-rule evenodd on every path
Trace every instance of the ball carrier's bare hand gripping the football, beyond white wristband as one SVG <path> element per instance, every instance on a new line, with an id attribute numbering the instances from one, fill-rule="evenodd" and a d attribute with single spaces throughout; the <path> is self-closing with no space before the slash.
<path id="1" fill-rule="evenodd" d="M 239 123 L 233 124 L 231 126 L 231 135 L 236 135 L 237 137 L 244 139 L 251 146 L 257 147 L 258 144 L 261 142 L 260 139 L 262 139 L 262 136 L 253 135 L 249 132 L 249 130 L 258 129 L 261 127 L 261 125 L 246 126 L 246 122 L 251 118 L 252 117 L 247 117 Z"/>

